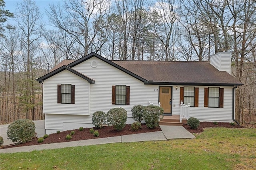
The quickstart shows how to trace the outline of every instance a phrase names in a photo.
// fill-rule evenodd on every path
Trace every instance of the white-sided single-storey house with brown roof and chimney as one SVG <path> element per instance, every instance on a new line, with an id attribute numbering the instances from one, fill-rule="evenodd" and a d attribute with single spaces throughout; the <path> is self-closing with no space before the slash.
<path id="1" fill-rule="evenodd" d="M 45 133 L 94 127 L 94 112 L 115 107 L 126 109 L 130 124 L 134 105 L 159 102 L 164 115 L 232 122 L 235 89 L 242 83 L 230 75 L 230 62 L 229 52 L 210 61 L 110 61 L 96 53 L 64 60 L 37 79 L 43 84 Z"/>

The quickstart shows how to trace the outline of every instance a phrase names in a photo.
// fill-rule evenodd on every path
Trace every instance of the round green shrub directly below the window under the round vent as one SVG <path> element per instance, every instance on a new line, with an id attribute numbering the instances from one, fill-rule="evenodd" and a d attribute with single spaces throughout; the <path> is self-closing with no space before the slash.
<path id="1" fill-rule="evenodd" d="M 127 111 L 124 108 L 113 108 L 107 113 L 108 125 L 113 126 L 115 130 L 122 130 L 127 121 Z"/>

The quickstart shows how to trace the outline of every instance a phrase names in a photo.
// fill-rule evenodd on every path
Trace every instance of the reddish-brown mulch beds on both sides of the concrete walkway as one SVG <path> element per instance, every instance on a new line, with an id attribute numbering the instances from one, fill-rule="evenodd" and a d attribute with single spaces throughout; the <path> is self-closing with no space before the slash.
<path id="1" fill-rule="evenodd" d="M 206 128 L 206 127 L 243 128 L 243 126 L 240 126 L 240 125 L 230 125 L 230 123 L 223 123 L 223 122 L 218 122 L 218 125 L 214 125 L 212 122 L 200 122 L 200 126 L 198 127 L 198 129 L 190 129 L 188 125 L 183 125 L 183 127 L 186 128 L 191 133 L 203 132 L 204 128 Z M 114 130 L 113 127 L 104 127 L 101 129 L 97 129 L 94 127 L 93 129 L 98 130 L 100 136 L 94 137 L 93 134 L 91 134 L 89 132 L 90 128 L 84 128 L 82 131 L 79 131 L 79 129 L 75 129 L 75 130 L 73 130 L 75 132 L 75 134 L 72 136 L 72 138 L 70 140 L 67 140 L 66 135 L 70 134 L 70 132 L 72 131 L 72 130 L 67 130 L 64 132 L 60 132 L 59 134 L 57 134 L 57 133 L 50 134 L 49 137 L 44 139 L 44 142 L 42 142 L 42 143 L 38 143 L 37 138 L 34 138 L 30 142 L 26 142 L 26 143 L 22 143 L 22 144 L 6 145 L 6 146 L 0 147 L 0 149 L 161 131 L 160 127 L 147 128 L 145 124 L 142 124 L 142 128 L 139 129 L 138 131 L 131 131 L 130 130 L 131 125 L 126 125 L 124 127 L 124 129 L 121 131 L 116 131 L 116 130 Z"/>

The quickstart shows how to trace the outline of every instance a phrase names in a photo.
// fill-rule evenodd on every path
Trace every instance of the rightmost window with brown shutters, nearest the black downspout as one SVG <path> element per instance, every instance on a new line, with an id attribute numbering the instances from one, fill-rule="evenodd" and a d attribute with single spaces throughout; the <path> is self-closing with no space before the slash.
<path id="1" fill-rule="evenodd" d="M 219 87 L 204 88 L 204 107 L 223 107 L 224 89 Z"/>

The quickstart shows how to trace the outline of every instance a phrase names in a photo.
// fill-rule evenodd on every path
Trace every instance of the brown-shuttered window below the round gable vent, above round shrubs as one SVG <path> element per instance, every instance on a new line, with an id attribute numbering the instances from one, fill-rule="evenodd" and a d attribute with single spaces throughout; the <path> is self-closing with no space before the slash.
<path id="1" fill-rule="evenodd" d="M 130 105 L 130 86 L 112 86 L 112 105 Z"/>

